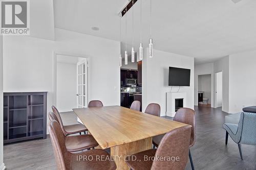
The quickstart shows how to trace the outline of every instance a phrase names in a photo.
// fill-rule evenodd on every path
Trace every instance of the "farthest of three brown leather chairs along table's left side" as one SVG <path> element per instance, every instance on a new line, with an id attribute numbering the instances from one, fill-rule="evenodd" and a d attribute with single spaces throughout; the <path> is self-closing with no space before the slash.
<path id="1" fill-rule="evenodd" d="M 52 106 L 52 111 L 55 114 L 55 117 L 57 117 L 57 122 L 59 123 L 64 135 L 71 135 L 71 134 L 75 134 L 75 133 L 80 133 L 81 134 L 81 132 L 88 131 L 86 126 L 84 126 L 82 124 L 74 124 L 74 125 L 64 126 L 63 123 L 62 123 L 59 111 L 57 110 L 57 108 L 55 106 Z"/>

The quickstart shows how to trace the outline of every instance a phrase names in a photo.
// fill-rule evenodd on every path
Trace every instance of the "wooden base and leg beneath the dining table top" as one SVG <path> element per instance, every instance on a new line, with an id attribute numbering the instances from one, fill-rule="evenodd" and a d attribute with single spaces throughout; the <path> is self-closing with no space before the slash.
<path id="1" fill-rule="evenodd" d="M 129 166 L 125 163 L 125 156 L 149 149 L 152 149 L 152 137 L 112 147 L 110 152 L 115 159 L 117 170 L 129 170 Z"/>

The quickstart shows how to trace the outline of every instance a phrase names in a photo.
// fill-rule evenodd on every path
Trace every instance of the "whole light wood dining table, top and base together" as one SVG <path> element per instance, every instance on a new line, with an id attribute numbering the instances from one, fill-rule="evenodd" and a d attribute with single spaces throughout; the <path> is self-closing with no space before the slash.
<path id="1" fill-rule="evenodd" d="M 127 156 L 152 149 L 152 138 L 186 124 L 121 106 L 73 109 L 100 149 L 109 149 L 117 169 L 130 169 Z"/>

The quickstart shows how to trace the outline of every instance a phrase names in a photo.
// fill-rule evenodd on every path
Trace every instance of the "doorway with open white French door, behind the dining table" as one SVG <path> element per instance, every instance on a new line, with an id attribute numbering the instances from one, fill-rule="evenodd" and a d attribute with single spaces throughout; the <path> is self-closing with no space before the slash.
<path id="1" fill-rule="evenodd" d="M 54 105 L 59 112 L 85 108 L 90 96 L 89 58 L 54 54 Z"/>

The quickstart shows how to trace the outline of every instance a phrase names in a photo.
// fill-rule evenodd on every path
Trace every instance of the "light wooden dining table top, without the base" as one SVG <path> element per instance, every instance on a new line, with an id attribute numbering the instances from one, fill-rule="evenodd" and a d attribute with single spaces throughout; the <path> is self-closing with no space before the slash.
<path id="1" fill-rule="evenodd" d="M 121 106 L 73 109 L 102 149 L 167 133 L 186 124 Z"/>

